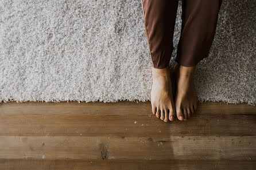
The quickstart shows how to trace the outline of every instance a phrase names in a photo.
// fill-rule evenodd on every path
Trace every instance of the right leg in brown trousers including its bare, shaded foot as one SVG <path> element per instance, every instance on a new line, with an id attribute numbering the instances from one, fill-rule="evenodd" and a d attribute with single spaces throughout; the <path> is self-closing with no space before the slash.
<path id="1" fill-rule="evenodd" d="M 181 35 L 177 49 L 174 74 L 177 92 L 176 114 L 188 120 L 196 110 L 197 97 L 193 88 L 193 74 L 198 62 L 208 56 L 214 39 L 222 0 L 183 0 Z"/>

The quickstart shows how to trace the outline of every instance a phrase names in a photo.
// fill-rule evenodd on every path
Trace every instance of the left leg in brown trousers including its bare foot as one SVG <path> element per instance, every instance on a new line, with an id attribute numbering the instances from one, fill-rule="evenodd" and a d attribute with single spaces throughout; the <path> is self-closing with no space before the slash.
<path id="1" fill-rule="evenodd" d="M 152 59 L 152 112 L 167 122 L 175 116 L 169 61 L 179 1 L 141 0 L 145 33 Z"/>

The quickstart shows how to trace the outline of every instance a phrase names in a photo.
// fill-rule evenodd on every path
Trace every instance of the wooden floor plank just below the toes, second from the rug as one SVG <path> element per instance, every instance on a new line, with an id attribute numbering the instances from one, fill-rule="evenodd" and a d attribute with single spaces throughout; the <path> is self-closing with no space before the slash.
<path id="1" fill-rule="evenodd" d="M 1 136 L 255 136 L 255 130 L 256 114 L 195 114 L 168 123 L 147 114 L 0 116 Z"/>

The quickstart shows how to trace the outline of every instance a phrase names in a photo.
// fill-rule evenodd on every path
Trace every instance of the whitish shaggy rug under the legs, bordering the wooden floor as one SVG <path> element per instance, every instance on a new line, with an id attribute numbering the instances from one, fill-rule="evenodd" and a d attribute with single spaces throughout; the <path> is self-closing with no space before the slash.
<path id="1" fill-rule="evenodd" d="M 255 6 L 223 1 L 195 75 L 200 101 L 256 104 Z M 0 102 L 150 100 L 141 1 L 0 0 L 0 59 Z"/>

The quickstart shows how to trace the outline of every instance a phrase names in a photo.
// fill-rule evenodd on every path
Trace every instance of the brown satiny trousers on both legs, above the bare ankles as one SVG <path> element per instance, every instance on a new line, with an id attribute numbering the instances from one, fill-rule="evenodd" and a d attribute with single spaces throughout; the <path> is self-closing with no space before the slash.
<path id="1" fill-rule="evenodd" d="M 141 0 L 152 66 L 169 65 L 178 0 Z M 182 0 L 182 24 L 176 62 L 195 66 L 207 57 L 222 0 Z"/>

